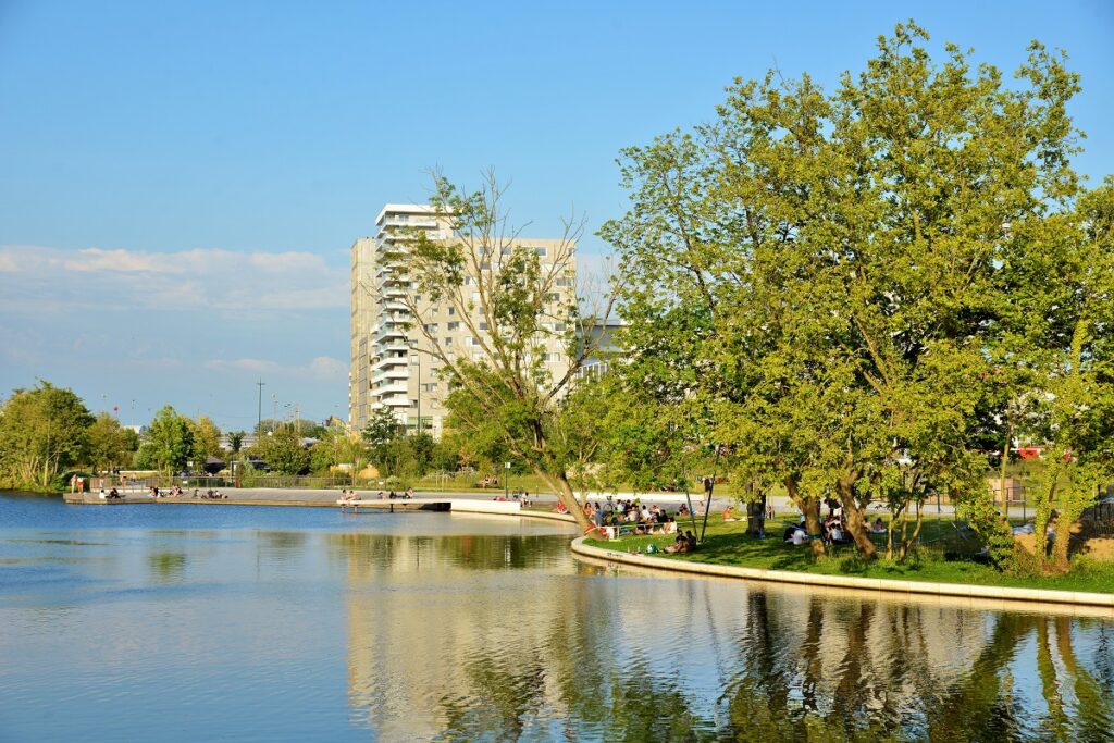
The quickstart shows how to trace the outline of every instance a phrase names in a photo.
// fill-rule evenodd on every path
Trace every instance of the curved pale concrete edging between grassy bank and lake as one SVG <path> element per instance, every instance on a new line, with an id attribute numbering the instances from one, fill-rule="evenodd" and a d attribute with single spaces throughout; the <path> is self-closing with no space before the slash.
<path id="1" fill-rule="evenodd" d="M 1081 606 L 1102 606 L 1114 608 L 1114 594 L 1092 594 L 1072 590 L 1046 590 L 1039 588 L 1010 588 L 1005 586 L 971 586 L 952 583 L 927 583 L 920 580 L 889 580 L 886 578 L 857 578 L 853 576 L 811 575 L 790 570 L 766 570 L 764 568 L 744 568 L 729 565 L 711 565 L 692 563 L 690 560 L 668 559 L 665 557 L 648 557 L 631 555 L 584 544 L 585 537 L 573 540 L 573 551 L 577 555 L 654 568 L 673 570 L 675 573 L 695 573 L 722 578 L 744 578 L 749 580 L 766 580 L 771 583 L 789 583 L 797 585 L 821 586 L 824 588 L 858 588 L 899 594 L 922 594 L 929 596 L 954 596 L 958 598 L 987 598 L 1012 602 L 1037 602 L 1040 604 L 1075 604 Z"/>

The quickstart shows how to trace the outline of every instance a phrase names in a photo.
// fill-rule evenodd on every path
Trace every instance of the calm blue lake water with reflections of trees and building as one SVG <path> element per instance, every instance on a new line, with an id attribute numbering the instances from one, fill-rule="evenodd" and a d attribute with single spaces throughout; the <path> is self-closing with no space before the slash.
<path id="1" fill-rule="evenodd" d="M 617 573 L 544 521 L 0 496 L 0 741 L 1112 730 L 1110 613 Z"/>

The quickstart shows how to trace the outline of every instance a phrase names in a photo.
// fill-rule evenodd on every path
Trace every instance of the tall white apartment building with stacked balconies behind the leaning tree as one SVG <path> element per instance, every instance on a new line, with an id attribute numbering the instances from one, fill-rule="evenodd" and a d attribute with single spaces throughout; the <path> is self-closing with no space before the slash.
<path id="1" fill-rule="evenodd" d="M 374 237 L 362 237 L 352 244 L 352 366 L 349 372 L 349 422 L 363 429 L 372 412 L 388 408 L 405 423 L 408 430 L 422 430 L 440 438 L 448 413 L 444 398 L 448 389 L 439 378 L 438 362 L 427 349 L 429 340 L 416 326 L 407 305 L 408 299 L 420 307 L 423 329 L 451 359 L 470 355 L 479 360 L 479 342 L 458 312 L 460 307 L 442 301 L 434 305 L 429 297 L 416 296 L 413 282 L 407 275 L 405 232 L 420 229 L 430 239 L 451 239 L 450 225 L 438 218 L 432 207 L 422 204 L 388 204 L 375 218 Z M 558 239 L 516 237 L 501 247 L 529 246 L 546 258 L 556 255 L 563 243 Z M 569 246 L 564 243 L 565 248 Z M 574 291 L 575 263 L 570 262 L 568 275 L 556 283 L 557 293 Z M 466 277 L 472 283 L 475 276 Z M 566 295 L 567 296 L 567 295 Z M 564 301 L 566 296 L 555 296 Z M 486 323 L 476 320 L 478 332 L 489 331 Z M 556 327 L 561 331 L 564 329 Z M 557 339 L 548 340 L 545 359 L 556 377 L 568 370 L 566 350 Z"/>

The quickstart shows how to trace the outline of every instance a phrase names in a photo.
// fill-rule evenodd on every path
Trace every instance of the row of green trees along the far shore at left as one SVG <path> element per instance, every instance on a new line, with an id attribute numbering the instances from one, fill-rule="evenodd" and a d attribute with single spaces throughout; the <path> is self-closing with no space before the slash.
<path id="1" fill-rule="evenodd" d="M 252 439 L 254 446 L 246 446 Z M 58 491 L 78 471 L 201 472 L 211 458 L 226 466 L 240 461 L 237 471 L 251 475 L 258 462 L 280 475 L 359 473 L 371 465 L 381 477 L 413 480 L 462 466 L 494 471 L 506 452 L 498 446 L 477 447 L 460 436 L 440 442 L 429 434 L 405 436 L 404 427 L 385 412 L 363 432 L 307 420 L 264 420 L 250 438 L 244 431 L 225 436 L 208 417 L 195 420 L 167 405 L 140 437 L 107 412 L 91 413 L 72 390 L 45 381 L 16 390 L 0 407 L 2 488 Z"/>

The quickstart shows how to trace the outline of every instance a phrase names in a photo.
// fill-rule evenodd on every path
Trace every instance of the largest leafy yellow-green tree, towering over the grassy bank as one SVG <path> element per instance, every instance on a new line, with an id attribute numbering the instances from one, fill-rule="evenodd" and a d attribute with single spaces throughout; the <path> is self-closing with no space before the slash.
<path id="1" fill-rule="evenodd" d="M 927 38 L 898 26 L 833 94 L 737 81 L 712 124 L 625 151 L 635 205 L 604 232 L 637 275 L 633 355 L 686 344 L 661 368 L 736 470 L 782 483 L 810 530 L 838 498 L 868 558 L 872 500 L 988 496 L 970 443 L 997 394 L 1005 270 L 1075 182 L 1061 57 L 1034 46 L 1007 86 Z"/>

